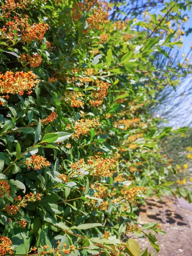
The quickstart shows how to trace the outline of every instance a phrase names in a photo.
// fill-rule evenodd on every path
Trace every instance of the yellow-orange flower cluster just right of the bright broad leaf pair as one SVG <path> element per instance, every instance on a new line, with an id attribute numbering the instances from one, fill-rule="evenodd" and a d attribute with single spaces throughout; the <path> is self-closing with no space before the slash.
<path id="1" fill-rule="evenodd" d="M 87 134 L 90 131 L 90 128 L 98 127 L 100 125 L 98 117 L 93 119 L 80 119 L 75 122 L 75 134 L 73 137 L 79 138 L 80 135 Z"/>

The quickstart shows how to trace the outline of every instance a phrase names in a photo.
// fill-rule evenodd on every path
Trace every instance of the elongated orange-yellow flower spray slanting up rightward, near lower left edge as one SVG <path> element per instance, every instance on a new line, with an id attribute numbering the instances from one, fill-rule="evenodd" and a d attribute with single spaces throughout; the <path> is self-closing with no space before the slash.
<path id="1" fill-rule="evenodd" d="M 42 196 L 42 194 L 35 194 L 32 192 L 25 195 L 23 198 L 21 198 L 21 196 L 18 195 L 17 197 L 14 198 L 14 204 L 12 204 L 11 206 L 7 204 L 5 210 L 8 213 L 8 215 L 15 215 L 20 209 L 20 207 L 26 207 L 28 202 L 35 203 L 36 201 L 40 201 Z"/>

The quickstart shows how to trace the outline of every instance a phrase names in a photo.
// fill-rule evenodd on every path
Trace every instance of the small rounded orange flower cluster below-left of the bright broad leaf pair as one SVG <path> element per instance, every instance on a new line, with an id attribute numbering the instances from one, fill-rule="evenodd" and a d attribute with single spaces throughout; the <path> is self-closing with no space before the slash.
<path id="1" fill-rule="evenodd" d="M 47 161 L 45 157 L 38 156 L 36 154 L 32 155 L 31 161 L 26 160 L 27 168 L 30 169 L 31 166 L 33 166 L 34 170 L 40 170 L 41 168 L 45 168 L 47 166 L 50 166 L 51 163 Z"/>

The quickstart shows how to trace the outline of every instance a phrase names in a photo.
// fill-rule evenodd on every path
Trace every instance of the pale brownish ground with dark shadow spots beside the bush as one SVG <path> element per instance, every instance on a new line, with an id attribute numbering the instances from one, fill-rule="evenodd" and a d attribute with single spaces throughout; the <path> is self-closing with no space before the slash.
<path id="1" fill-rule="evenodd" d="M 139 223 L 158 222 L 166 235 L 156 235 L 160 245 L 157 253 L 148 238 L 132 236 L 141 249 L 148 247 L 154 256 L 192 256 L 192 204 L 183 198 L 149 198 L 140 207 Z"/>

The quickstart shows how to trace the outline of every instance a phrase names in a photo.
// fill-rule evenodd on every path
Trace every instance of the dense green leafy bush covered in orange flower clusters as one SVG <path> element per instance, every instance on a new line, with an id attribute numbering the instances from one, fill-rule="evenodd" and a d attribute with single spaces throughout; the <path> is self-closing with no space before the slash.
<path id="1" fill-rule="evenodd" d="M 175 170 L 159 148 L 172 128 L 150 108 L 191 72 L 165 50 L 181 47 L 191 1 L 125 21 L 98 0 L 0 2 L 0 254 L 148 255 L 131 232 L 159 251 L 146 230 L 163 231 L 137 210 L 175 194 Z"/>

